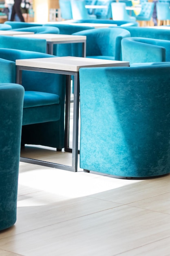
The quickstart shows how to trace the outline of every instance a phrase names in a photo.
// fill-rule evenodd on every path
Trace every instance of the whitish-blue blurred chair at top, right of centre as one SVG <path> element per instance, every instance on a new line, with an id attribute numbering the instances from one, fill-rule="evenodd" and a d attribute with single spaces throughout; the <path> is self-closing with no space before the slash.
<path id="1" fill-rule="evenodd" d="M 126 4 L 122 2 L 111 3 L 113 20 L 129 20 L 135 22 L 136 18 L 129 16 L 126 11 Z"/>

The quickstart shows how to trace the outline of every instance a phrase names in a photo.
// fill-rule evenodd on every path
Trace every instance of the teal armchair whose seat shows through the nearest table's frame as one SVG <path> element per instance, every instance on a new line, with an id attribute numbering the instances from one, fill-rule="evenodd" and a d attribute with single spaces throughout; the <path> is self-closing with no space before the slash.
<path id="1" fill-rule="evenodd" d="M 0 48 L 0 58 L 8 60 L 9 64 L 13 62 L 14 65 L 16 59 L 49 57 L 55 56 Z M 11 80 L 14 81 L 16 72 L 10 70 Z M 23 71 L 22 85 L 25 89 L 22 145 L 51 146 L 61 150 L 64 148 L 65 75 Z"/>

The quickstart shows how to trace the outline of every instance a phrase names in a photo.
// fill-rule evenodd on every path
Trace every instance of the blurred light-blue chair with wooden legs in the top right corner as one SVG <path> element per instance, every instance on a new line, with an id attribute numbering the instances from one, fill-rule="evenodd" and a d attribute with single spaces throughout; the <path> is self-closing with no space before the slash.
<path id="1" fill-rule="evenodd" d="M 170 24 L 170 4 L 169 2 L 157 2 L 157 25 Z"/>

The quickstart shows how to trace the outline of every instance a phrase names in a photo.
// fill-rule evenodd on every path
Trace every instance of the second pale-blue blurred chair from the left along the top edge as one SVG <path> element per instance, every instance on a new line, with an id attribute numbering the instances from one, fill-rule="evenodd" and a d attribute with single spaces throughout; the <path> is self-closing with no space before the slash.
<path id="1" fill-rule="evenodd" d="M 96 18 L 95 15 L 88 14 L 85 4 L 85 0 L 71 0 L 73 20 L 86 20 L 90 18 Z"/>

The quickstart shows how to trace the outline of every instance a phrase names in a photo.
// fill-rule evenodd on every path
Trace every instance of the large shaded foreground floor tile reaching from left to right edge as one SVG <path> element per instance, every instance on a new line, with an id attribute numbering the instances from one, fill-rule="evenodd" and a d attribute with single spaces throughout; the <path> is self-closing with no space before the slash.
<path id="1" fill-rule="evenodd" d="M 124 205 L 2 238 L 0 249 L 24 256 L 114 256 L 169 234 L 168 214 Z"/>

